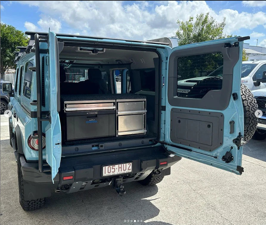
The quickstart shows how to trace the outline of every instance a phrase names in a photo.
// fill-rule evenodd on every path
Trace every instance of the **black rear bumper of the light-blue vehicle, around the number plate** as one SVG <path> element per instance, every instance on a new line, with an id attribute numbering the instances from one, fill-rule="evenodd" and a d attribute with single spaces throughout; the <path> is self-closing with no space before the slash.
<path id="1" fill-rule="evenodd" d="M 27 199 L 30 200 L 48 197 L 51 195 L 51 188 L 58 188 L 61 185 L 71 184 L 69 193 L 108 185 L 108 181 L 112 177 L 119 175 L 102 177 L 102 165 L 132 162 L 132 174 L 120 175 L 124 177 L 125 182 L 143 180 L 154 169 L 161 171 L 159 176 L 169 175 L 170 166 L 181 160 L 181 157 L 169 155 L 161 146 L 64 157 L 61 160 L 54 184 L 51 181 L 50 172 L 40 173 L 38 171 L 38 163 L 27 163 L 24 156 L 21 156 L 20 160 L 24 183 L 29 184 L 29 190 L 24 190 L 24 192 L 25 196 L 29 196 Z M 160 162 L 165 161 L 167 164 L 160 165 Z M 63 177 L 67 176 L 73 176 L 73 179 L 63 180 Z M 94 180 L 100 181 L 95 183 Z M 82 188 L 84 182 L 87 182 L 87 185 Z M 24 185 L 25 188 L 27 185 Z M 49 190 L 44 191 L 43 189 Z"/>

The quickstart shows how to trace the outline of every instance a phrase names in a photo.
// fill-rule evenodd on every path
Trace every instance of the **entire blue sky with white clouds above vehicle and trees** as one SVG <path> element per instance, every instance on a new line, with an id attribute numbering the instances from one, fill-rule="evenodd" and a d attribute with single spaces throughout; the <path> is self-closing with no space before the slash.
<path id="1" fill-rule="evenodd" d="M 175 36 L 176 21 L 210 12 L 225 34 L 266 47 L 266 1 L 1 1 L 2 23 L 23 31 L 149 40 Z"/>

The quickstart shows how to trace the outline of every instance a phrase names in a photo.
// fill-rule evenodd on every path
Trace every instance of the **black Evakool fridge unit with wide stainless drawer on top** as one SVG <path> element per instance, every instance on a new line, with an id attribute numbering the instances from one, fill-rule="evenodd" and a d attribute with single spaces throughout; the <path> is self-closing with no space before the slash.
<path id="1" fill-rule="evenodd" d="M 65 140 L 115 136 L 115 100 L 65 101 Z"/>

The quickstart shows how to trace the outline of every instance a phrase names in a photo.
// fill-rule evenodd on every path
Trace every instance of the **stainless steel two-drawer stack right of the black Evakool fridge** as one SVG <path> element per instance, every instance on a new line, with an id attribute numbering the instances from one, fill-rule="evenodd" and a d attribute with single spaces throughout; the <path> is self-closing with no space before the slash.
<path id="1" fill-rule="evenodd" d="M 116 100 L 116 135 L 146 133 L 146 99 Z"/>

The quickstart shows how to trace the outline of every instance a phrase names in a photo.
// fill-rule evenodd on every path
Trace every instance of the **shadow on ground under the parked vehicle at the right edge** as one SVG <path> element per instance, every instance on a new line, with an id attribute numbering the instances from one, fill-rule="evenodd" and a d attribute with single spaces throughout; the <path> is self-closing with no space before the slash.
<path id="1" fill-rule="evenodd" d="M 266 162 L 266 139 L 262 141 L 251 139 L 244 145 L 243 154 Z"/>

